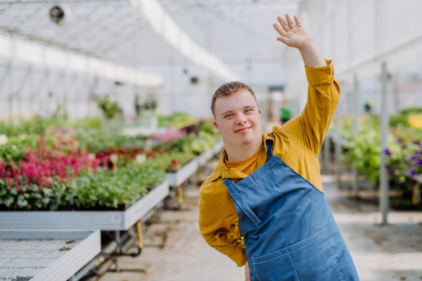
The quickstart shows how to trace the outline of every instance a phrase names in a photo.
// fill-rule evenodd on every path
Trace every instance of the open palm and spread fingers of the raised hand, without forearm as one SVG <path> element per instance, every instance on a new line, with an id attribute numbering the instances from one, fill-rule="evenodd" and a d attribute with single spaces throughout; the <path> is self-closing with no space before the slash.
<path id="1" fill-rule="evenodd" d="M 293 22 L 292 18 L 290 18 L 290 15 L 286 14 L 286 21 L 283 20 L 280 16 L 277 17 L 277 20 L 279 20 L 280 25 L 274 23 L 274 28 L 281 36 L 277 37 L 277 40 L 282 41 L 284 44 L 286 44 L 289 47 L 293 48 L 305 48 L 309 44 L 312 44 L 311 34 L 305 30 L 305 28 L 302 27 L 302 24 L 300 23 L 300 20 L 297 16 L 295 18 L 295 23 Z"/>

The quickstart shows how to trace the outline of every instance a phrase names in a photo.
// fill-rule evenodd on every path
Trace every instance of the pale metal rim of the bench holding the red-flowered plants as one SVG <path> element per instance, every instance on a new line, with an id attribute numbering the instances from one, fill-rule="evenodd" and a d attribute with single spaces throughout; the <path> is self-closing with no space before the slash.
<path id="1" fill-rule="evenodd" d="M 124 211 L 0 211 L 0 229 L 128 230 L 167 195 L 164 181 Z"/>

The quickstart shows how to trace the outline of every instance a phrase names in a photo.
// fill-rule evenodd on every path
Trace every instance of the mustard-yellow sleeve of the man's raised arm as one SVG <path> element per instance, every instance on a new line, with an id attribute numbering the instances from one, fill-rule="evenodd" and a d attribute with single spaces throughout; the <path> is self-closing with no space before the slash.
<path id="1" fill-rule="evenodd" d="M 307 103 L 302 114 L 281 127 L 314 154 L 318 154 L 333 120 L 340 99 L 340 86 L 334 78 L 331 60 L 327 65 L 305 67 L 309 83 Z"/>

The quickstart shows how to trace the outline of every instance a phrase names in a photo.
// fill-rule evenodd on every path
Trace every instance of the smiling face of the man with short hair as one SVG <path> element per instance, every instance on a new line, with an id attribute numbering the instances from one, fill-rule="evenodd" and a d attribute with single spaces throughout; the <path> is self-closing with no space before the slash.
<path id="1" fill-rule="evenodd" d="M 250 91 L 215 100 L 214 126 L 224 145 L 248 145 L 262 138 L 261 110 Z"/>

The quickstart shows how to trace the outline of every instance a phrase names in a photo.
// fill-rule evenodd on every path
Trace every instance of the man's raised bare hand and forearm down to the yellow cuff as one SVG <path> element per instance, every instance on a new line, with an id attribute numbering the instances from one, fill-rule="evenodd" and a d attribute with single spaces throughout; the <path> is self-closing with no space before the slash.
<path id="1" fill-rule="evenodd" d="M 300 54 L 302 55 L 305 66 L 307 67 L 316 67 L 324 66 L 326 62 L 319 52 L 314 39 L 311 34 L 302 27 L 302 23 L 297 16 L 295 18 L 295 23 L 293 22 L 290 15 L 286 14 L 286 21 L 283 20 L 280 16 L 277 17 L 280 25 L 274 23 L 273 27 L 281 36 L 277 37 L 278 41 L 283 42 L 289 47 L 298 48 Z"/>

